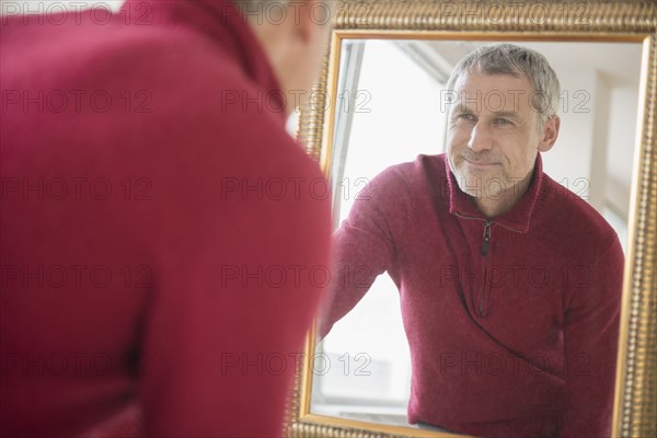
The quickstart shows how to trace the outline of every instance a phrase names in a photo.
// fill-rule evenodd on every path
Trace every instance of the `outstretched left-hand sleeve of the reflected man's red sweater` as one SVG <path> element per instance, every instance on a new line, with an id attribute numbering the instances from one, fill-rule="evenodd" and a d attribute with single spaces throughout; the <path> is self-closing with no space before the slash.
<path id="1" fill-rule="evenodd" d="M 407 216 L 407 185 L 393 166 L 377 175 L 365 193 L 354 201 L 348 218 L 333 234 L 331 286 L 318 316 L 320 338 L 360 301 L 394 261 L 394 230 Z"/>

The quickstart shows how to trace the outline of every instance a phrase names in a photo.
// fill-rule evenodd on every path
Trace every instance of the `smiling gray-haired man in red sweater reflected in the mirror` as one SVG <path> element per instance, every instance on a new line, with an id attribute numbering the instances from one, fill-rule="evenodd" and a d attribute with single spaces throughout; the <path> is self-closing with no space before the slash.
<path id="1" fill-rule="evenodd" d="M 320 335 L 388 272 L 411 347 L 410 423 L 608 437 L 623 254 L 543 172 L 558 80 L 542 55 L 497 44 L 462 59 L 447 90 L 447 153 L 382 172 L 335 232 Z"/>

